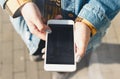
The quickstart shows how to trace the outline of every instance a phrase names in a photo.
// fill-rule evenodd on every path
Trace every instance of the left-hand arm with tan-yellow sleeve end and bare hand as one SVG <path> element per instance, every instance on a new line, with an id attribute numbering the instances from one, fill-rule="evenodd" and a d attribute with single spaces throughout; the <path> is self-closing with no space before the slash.
<path id="1" fill-rule="evenodd" d="M 5 9 L 9 15 L 13 18 L 22 15 L 31 33 L 45 40 L 46 30 L 49 29 L 49 27 L 43 23 L 41 12 L 33 1 L 34 0 L 8 0 L 6 3 L 1 2 L 5 5 Z"/>

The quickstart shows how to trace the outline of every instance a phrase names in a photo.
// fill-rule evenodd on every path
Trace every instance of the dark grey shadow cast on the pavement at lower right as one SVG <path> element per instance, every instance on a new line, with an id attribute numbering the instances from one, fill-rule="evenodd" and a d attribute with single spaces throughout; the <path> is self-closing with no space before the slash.
<path id="1" fill-rule="evenodd" d="M 89 65 L 89 60 L 91 59 L 92 53 L 87 54 L 80 63 L 77 64 L 77 71 L 69 73 L 67 79 L 71 78 L 75 74 L 79 73 L 80 70 L 88 68 L 92 64 L 114 64 L 120 63 L 120 44 L 107 44 L 102 43 L 95 51 L 97 61 L 92 60 Z M 95 56 L 95 55 L 94 55 Z M 93 57 L 93 56 L 92 56 Z M 94 58 L 95 59 L 95 58 Z M 86 75 L 87 76 L 87 75 Z"/>

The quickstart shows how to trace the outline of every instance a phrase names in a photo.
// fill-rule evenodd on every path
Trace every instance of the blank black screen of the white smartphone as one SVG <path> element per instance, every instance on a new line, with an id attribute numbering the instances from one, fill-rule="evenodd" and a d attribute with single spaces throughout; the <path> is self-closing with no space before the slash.
<path id="1" fill-rule="evenodd" d="M 74 64 L 73 25 L 49 24 L 46 64 Z"/>

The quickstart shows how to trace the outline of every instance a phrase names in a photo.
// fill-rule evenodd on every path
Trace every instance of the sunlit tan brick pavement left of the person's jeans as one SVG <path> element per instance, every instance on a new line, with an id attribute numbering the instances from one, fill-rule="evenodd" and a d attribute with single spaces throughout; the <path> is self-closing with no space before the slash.
<path id="1" fill-rule="evenodd" d="M 28 49 L 0 7 L 0 79 L 51 79 L 43 62 L 31 62 Z"/>

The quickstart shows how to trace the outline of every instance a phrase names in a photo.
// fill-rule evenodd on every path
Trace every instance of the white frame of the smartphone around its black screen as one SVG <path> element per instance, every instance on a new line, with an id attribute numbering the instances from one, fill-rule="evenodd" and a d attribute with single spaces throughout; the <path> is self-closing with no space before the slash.
<path id="1" fill-rule="evenodd" d="M 73 25 L 74 26 L 74 21 L 73 20 L 48 20 L 47 25 L 49 24 L 66 24 L 66 25 Z M 74 34 L 74 32 L 73 32 Z M 46 34 L 46 51 L 47 51 L 47 37 L 48 37 L 48 32 Z M 74 38 L 73 38 L 74 39 Z M 74 48 L 75 49 L 75 46 Z M 74 64 L 47 64 L 46 63 L 46 53 L 45 51 L 45 61 L 44 61 L 44 69 L 46 71 L 62 71 L 62 72 L 72 72 L 76 70 L 76 63 L 75 63 L 75 55 L 74 55 Z M 74 50 L 75 53 L 75 50 Z"/>

